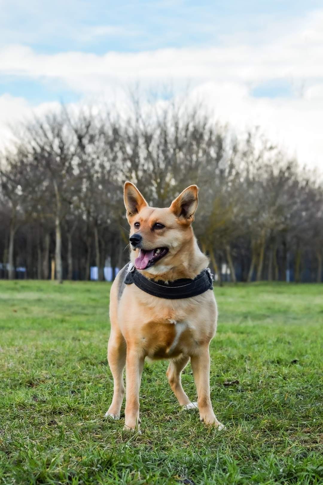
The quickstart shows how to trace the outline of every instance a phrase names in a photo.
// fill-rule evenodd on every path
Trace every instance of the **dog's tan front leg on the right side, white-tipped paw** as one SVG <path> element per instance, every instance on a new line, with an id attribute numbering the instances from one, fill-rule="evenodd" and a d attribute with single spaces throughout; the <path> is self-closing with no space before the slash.
<path id="1" fill-rule="evenodd" d="M 223 429 L 223 424 L 215 417 L 210 398 L 210 353 L 208 346 L 203 346 L 198 355 L 191 356 L 191 366 L 198 391 L 200 420 L 208 426 Z"/>

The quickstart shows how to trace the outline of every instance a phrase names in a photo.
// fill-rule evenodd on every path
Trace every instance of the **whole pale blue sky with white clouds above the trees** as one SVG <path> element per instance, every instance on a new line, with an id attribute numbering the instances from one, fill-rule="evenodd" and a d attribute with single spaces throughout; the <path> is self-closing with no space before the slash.
<path id="1" fill-rule="evenodd" d="M 130 86 L 199 101 L 323 170 L 323 3 L 0 0 L 0 146 L 59 103 Z"/>

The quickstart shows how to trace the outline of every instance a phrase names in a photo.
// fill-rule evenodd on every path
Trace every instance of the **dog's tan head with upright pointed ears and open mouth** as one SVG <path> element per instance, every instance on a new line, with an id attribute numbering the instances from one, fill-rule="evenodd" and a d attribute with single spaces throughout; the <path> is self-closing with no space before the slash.
<path id="1" fill-rule="evenodd" d="M 170 207 L 157 209 L 149 207 L 135 185 L 125 182 L 124 205 L 138 270 L 158 275 L 177 266 L 184 257 L 189 258 L 189 246 L 194 240 L 191 223 L 198 207 L 196 185 L 187 187 Z"/>

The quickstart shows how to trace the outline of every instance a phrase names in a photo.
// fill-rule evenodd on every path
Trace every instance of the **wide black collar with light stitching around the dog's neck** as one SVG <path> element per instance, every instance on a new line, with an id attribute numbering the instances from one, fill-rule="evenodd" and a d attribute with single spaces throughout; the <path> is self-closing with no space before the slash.
<path id="1" fill-rule="evenodd" d="M 158 298 L 178 300 L 200 295 L 207 290 L 213 290 L 213 275 L 209 268 L 201 271 L 194 279 L 176 279 L 166 284 L 164 281 L 154 281 L 142 275 L 132 263 L 129 264 L 124 278 L 126 285 L 135 284 L 140 290 Z"/>

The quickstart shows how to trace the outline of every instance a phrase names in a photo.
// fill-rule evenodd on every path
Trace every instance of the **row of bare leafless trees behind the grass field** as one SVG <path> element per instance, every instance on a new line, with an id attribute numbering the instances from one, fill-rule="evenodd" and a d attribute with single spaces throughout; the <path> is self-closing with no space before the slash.
<path id="1" fill-rule="evenodd" d="M 322 281 L 322 179 L 259 129 L 238 138 L 198 106 L 134 100 L 123 112 L 62 106 L 13 134 L 0 156 L 1 277 L 88 280 L 97 266 L 102 280 L 106 263 L 114 274 L 128 260 L 130 180 L 157 207 L 200 187 L 194 230 L 219 283 Z"/>

